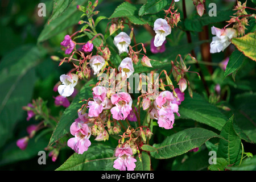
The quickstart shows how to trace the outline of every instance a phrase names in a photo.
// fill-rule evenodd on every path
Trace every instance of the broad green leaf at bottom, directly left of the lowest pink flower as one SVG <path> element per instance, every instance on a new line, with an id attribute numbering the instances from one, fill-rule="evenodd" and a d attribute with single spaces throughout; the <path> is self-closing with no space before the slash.
<path id="1" fill-rule="evenodd" d="M 83 154 L 73 154 L 56 171 L 113 171 L 114 148 L 93 144 Z"/>

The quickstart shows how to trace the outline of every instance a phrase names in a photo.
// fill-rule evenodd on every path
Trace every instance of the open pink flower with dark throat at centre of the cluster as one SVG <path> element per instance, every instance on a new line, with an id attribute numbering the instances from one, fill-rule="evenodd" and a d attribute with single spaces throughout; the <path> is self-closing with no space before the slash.
<path id="1" fill-rule="evenodd" d="M 126 119 L 132 110 L 131 105 L 133 104 L 130 94 L 126 92 L 113 94 L 111 96 L 111 102 L 115 105 L 110 110 L 113 114 L 113 118 L 117 120 Z"/>

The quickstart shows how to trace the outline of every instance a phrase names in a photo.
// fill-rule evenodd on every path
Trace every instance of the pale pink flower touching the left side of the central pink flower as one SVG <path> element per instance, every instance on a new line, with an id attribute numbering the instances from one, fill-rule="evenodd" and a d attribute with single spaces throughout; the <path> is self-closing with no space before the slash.
<path id="1" fill-rule="evenodd" d="M 98 117 L 102 110 L 108 110 L 112 107 L 112 103 L 106 97 L 107 90 L 104 86 L 96 86 L 93 88 L 93 101 L 88 102 L 88 116 Z"/>

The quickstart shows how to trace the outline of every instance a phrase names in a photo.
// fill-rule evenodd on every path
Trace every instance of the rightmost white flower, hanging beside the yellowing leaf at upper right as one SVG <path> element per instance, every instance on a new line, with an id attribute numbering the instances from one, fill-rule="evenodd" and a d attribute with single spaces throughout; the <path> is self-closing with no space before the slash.
<path id="1" fill-rule="evenodd" d="M 220 29 L 214 26 L 212 27 L 212 34 L 216 36 L 212 38 L 210 43 L 210 53 L 224 51 L 231 43 L 230 40 L 237 36 L 236 30 L 233 28 Z"/>

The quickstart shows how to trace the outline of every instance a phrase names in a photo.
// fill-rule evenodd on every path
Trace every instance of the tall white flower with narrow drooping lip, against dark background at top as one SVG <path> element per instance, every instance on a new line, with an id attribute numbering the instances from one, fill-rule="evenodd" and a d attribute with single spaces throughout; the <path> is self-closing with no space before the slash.
<path id="1" fill-rule="evenodd" d="M 154 23 L 154 31 L 156 33 L 154 46 L 159 47 L 162 46 L 164 40 L 166 40 L 166 36 L 171 34 L 172 29 L 165 19 L 158 18 Z"/>

